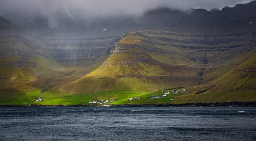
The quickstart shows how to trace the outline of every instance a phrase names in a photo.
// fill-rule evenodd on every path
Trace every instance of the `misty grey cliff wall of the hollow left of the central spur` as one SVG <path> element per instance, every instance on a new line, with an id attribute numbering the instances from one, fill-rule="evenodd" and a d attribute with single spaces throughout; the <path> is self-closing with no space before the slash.
<path id="1" fill-rule="evenodd" d="M 113 44 L 121 37 L 89 38 L 89 39 L 58 39 L 46 40 L 45 45 L 51 48 L 47 56 L 65 66 L 85 65 L 84 62 L 96 61 L 108 56 Z M 94 62 L 97 63 L 97 62 Z"/>

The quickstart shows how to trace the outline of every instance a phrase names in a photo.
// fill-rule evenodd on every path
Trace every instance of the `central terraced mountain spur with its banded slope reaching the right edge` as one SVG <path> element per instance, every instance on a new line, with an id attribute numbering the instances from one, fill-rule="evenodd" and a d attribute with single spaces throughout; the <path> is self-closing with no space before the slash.
<path id="1" fill-rule="evenodd" d="M 130 32 L 115 43 L 101 66 L 56 90 L 69 93 L 156 91 L 196 86 L 215 80 L 252 57 L 254 54 L 247 52 L 255 49 L 255 43 L 253 33 L 209 36 Z M 241 59 L 236 59 L 238 57 Z"/>

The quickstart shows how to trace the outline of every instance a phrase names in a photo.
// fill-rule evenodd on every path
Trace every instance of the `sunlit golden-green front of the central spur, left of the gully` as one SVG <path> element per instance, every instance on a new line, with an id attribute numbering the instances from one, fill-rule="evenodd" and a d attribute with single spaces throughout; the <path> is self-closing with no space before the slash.
<path id="1" fill-rule="evenodd" d="M 172 63 L 182 58 L 176 55 L 178 58 L 164 63 L 161 58 L 156 57 L 160 56 L 160 53 L 154 54 L 148 50 L 152 48 L 146 43 L 148 40 L 151 40 L 150 37 L 139 32 L 128 33 L 115 44 L 109 58 L 93 72 L 66 83 L 61 88 L 53 87 L 53 89 L 68 93 L 124 90 L 145 92 L 166 89 L 170 86 L 193 86 L 199 81 L 198 73 L 201 69 L 196 68 L 195 62 L 195 65 L 186 65 L 186 60 L 181 60 L 182 63 L 178 64 Z M 172 46 L 159 47 L 165 49 L 167 53 L 177 50 L 172 48 Z"/>

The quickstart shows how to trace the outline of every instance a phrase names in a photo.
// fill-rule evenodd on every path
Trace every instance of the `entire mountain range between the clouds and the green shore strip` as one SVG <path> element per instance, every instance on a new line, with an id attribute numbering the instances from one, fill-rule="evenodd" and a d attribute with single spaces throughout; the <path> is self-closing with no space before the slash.
<path id="1" fill-rule="evenodd" d="M 0 101 L 18 95 L 30 99 L 28 95 L 38 95 L 49 82 L 49 97 L 175 87 L 189 88 L 177 101 L 215 93 L 251 95 L 256 85 L 255 6 L 252 1 L 224 8 L 213 17 L 202 9 L 185 15 L 158 9 L 145 14 L 142 22 L 128 19 L 132 26 L 127 30 L 102 31 L 99 23 L 95 27 L 102 26 L 101 31 L 91 36 L 84 32 L 88 26 L 58 37 L 51 34 L 57 29 L 34 34 L 34 27 L 20 30 L 0 18 Z"/>

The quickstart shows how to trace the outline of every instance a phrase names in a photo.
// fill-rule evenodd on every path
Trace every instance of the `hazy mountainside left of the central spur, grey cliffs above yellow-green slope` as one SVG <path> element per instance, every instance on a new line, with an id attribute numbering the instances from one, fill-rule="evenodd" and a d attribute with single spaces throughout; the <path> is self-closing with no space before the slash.
<path id="1" fill-rule="evenodd" d="M 44 89 L 52 78 L 86 73 L 103 62 L 118 37 L 42 39 L 15 29 L 0 17 L 0 93 Z"/>

